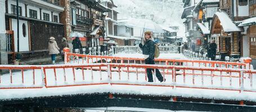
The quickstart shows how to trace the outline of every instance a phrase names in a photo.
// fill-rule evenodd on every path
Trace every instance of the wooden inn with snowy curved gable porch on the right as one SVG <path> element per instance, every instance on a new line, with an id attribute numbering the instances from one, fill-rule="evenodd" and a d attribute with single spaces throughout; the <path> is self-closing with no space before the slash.
<path id="1" fill-rule="evenodd" d="M 221 60 L 225 56 L 239 58 L 242 54 L 242 38 L 244 30 L 236 26 L 237 21 L 242 21 L 249 16 L 249 1 L 219 1 L 220 10 L 215 13 L 210 32 L 218 35 L 218 50 Z"/>

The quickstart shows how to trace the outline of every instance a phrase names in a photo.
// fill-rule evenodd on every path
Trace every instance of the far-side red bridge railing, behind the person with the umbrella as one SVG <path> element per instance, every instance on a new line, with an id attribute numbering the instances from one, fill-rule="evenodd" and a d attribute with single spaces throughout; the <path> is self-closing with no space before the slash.
<path id="1" fill-rule="evenodd" d="M 144 64 L 143 58 L 113 57 L 103 55 L 84 55 L 75 53 L 65 54 L 65 63 L 128 63 Z M 249 69 L 250 63 L 239 62 L 221 62 L 210 60 L 188 60 L 188 59 L 155 59 L 156 64 L 173 65 L 173 66 L 196 66 L 196 67 L 218 67 L 218 68 L 246 68 Z"/>

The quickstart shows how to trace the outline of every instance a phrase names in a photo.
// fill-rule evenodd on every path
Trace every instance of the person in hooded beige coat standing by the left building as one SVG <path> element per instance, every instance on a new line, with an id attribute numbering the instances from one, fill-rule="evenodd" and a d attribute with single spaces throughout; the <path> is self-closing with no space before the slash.
<path id="1" fill-rule="evenodd" d="M 60 48 L 58 47 L 55 38 L 51 37 L 48 43 L 48 50 L 49 50 L 49 54 L 51 55 L 52 58 L 52 64 L 55 64 L 55 59 L 56 59 L 56 55 L 60 54 L 59 50 Z"/>

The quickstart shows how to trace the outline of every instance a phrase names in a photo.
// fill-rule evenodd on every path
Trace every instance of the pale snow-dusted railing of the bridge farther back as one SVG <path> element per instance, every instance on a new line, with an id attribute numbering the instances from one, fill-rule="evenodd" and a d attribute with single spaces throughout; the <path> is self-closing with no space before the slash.
<path id="1" fill-rule="evenodd" d="M 178 46 L 159 46 L 160 53 L 179 53 Z M 142 53 L 141 48 L 138 46 L 112 46 L 111 52 L 113 54 L 118 53 Z"/>

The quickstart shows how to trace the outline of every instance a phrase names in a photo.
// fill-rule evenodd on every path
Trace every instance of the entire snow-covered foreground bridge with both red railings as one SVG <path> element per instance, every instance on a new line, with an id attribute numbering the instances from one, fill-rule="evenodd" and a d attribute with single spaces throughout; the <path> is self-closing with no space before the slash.
<path id="1" fill-rule="evenodd" d="M 39 102 L 47 100 L 47 104 L 56 104 L 65 97 L 74 99 L 78 96 L 85 97 L 83 95 L 95 95 L 101 98 L 107 96 L 111 100 L 115 97 L 123 97 L 125 99 L 123 101 L 128 97 L 134 99 L 147 97 L 145 99 L 155 99 L 163 105 L 181 103 L 179 101 L 217 101 L 255 105 L 256 71 L 248 68 L 249 63 L 186 59 L 155 59 L 155 61 L 157 65 L 146 65 L 143 64 L 142 58 L 68 53 L 65 64 L 62 65 L 2 65 L 0 69 L 9 72 L 0 76 L 0 99 L 3 102 L 37 99 Z M 173 65 L 175 63 L 177 65 Z M 158 68 L 166 81 L 160 83 L 154 77 L 154 82 L 148 83 L 146 68 Z M 59 100 L 53 103 L 50 99 Z M 171 101 L 160 101 L 163 99 Z M 124 105 L 116 102 L 114 104 Z M 70 105 L 68 107 L 71 107 Z M 86 107 L 88 108 L 89 105 L 79 108 Z"/>

